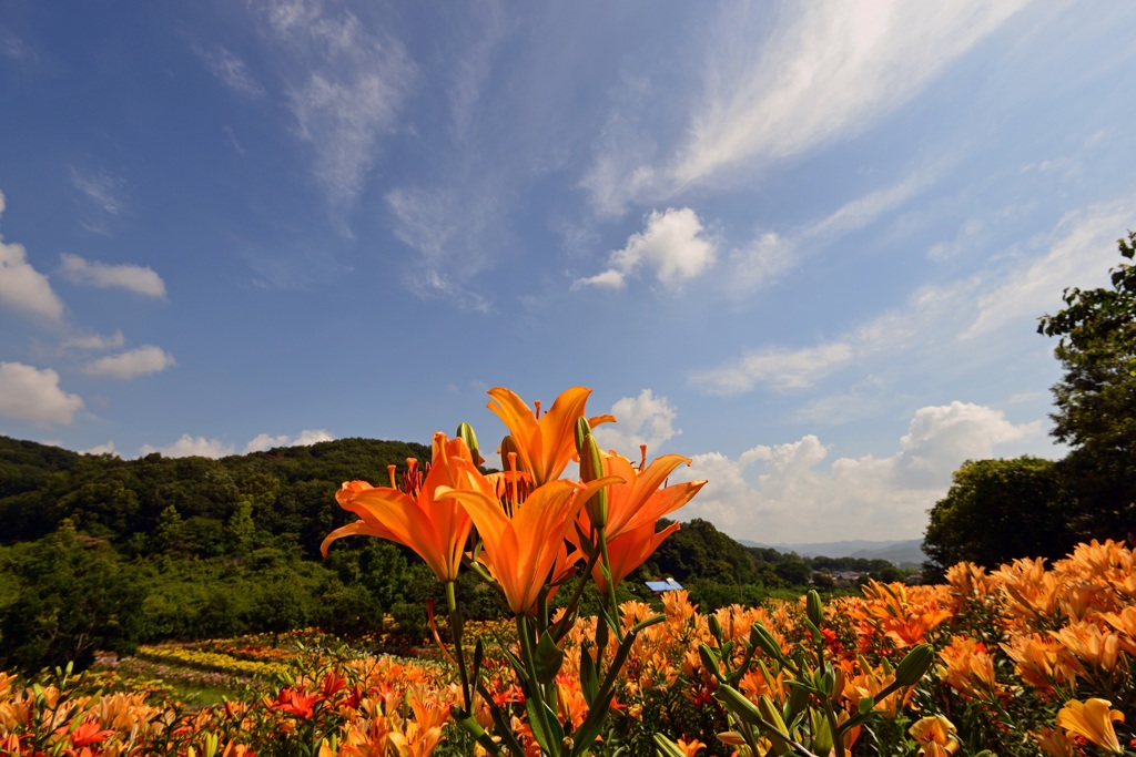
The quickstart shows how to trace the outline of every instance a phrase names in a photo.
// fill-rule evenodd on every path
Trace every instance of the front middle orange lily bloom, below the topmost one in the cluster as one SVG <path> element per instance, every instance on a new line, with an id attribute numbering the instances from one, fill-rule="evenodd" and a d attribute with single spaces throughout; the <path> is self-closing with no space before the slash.
<path id="1" fill-rule="evenodd" d="M 536 604 L 553 565 L 563 552 L 565 535 L 573 528 L 584 502 L 610 483 L 602 478 L 582 486 L 556 480 L 533 490 L 506 513 L 500 501 L 475 489 L 441 489 L 438 498 L 457 501 L 477 525 L 485 545 L 481 558 L 504 591 L 509 609 L 520 615 Z"/>

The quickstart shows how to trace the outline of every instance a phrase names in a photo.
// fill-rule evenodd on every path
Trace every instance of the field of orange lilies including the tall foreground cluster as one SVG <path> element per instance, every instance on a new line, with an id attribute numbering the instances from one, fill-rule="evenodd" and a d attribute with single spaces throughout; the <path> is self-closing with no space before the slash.
<path id="1" fill-rule="evenodd" d="M 825 606 L 702 614 L 615 588 L 674 527 L 657 521 L 703 486 L 667 486 L 685 459 L 638 464 L 599 449 L 590 392 L 542 415 L 492 389 L 509 435 L 483 473 L 462 423 L 434 435 L 401 486 L 343 485 L 359 521 L 331 533 L 394 540 L 446 588 L 435 659 L 307 654 L 269 689 L 209 707 L 89 692 L 64 671 L 0 673 L 0 755 L 711 756 L 795 754 L 1136 755 L 1136 557 L 1080 545 L 1046 566 L 959 564 L 947 583 L 870 583 Z M 560 478 L 570 459 L 579 479 Z M 500 591 L 513 625 L 483 632 L 454 599 L 458 571 Z M 578 575 L 552 612 L 553 595 Z M 579 615 L 598 591 L 599 616 Z M 567 590 L 566 590 L 567 594 Z M 50 680 L 49 680 L 50 679 Z"/>

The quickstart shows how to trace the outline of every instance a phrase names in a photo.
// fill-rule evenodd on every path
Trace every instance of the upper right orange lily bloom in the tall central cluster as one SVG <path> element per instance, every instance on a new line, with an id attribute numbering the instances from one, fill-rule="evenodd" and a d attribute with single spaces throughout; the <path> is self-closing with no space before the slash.
<path id="1" fill-rule="evenodd" d="M 615 452 L 603 456 L 608 477 L 621 479 L 608 487 L 608 524 L 604 532 L 609 546 L 621 535 L 644 525 L 650 524 L 653 531 L 655 521 L 685 505 L 705 486 L 705 480 L 701 480 L 660 488 L 683 463 L 690 465 L 691 460 L 682 455 L 663 455 L 652 460 L 646 470 L 638 470 Z M 590 531 L 591 521 L 586 511 L 580 513 L 580 528 L 585 533 Z"/>

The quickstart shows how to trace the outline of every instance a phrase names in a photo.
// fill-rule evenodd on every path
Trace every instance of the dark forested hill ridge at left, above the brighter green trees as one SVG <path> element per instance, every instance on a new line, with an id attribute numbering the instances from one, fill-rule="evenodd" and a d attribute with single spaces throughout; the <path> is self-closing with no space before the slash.
<path id="1" fill-rule="evenodd" d="M 0 437 L 0 544 L 39 539 L 70 519 L 131 556 L 169 546 L 225 554 L 243 530 L 240 538 L 283 538 L 315 558 L 328 531 L 354 520 L 335 505 L 343 481 L 386 483 L 389 464 L 404 470 L 408 457 L 429 454 L 420 444 L 354 438 L 220 460 L 120 460 Z"/>

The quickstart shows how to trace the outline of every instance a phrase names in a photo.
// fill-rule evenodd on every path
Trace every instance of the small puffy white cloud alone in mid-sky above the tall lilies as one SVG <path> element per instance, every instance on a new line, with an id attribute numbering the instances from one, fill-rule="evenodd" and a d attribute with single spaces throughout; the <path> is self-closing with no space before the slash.
<path id="1" fill-rule="evenodd" d="M 590 278 L 577 279 L 574 288 L 600 286 L 620 289 L 641 268 L 654 271 L 655 278 L 675 287 L 701 276 L 715 263 L 716 242 L 690 208 L 651 211 L 642 232 L 627 238 L 627 246 L 608 259 L 610 268 Z"/>

